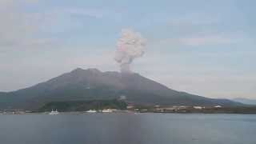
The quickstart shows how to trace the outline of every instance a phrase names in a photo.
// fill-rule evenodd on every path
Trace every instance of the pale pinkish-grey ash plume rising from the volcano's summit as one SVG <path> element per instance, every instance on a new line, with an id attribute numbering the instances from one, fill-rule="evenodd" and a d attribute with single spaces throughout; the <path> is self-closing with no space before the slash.
<path id="1" fill-rule="evenodd" d="M 142 57 L 145 52 L 146 39 L 134 30 L 122 30 L 122 37 L 118 39 L 114 60 L 120 65 L 122 73 L 130 73 L 130 64 L 134 58 Z"/>

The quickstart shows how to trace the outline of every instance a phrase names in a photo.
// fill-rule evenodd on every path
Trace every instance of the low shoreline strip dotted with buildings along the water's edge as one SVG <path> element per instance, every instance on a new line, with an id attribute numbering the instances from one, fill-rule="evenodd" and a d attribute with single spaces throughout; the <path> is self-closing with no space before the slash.
<path id="1" fill-rule="evenodd" d="M 125 110 L 114 108 L 90 109 L 78 111 L 60 110 L 60 113 L 79 112 L 79 113 L 202 113 L 202 114 L 256 114 L 256 106 L 134 106 L 127 105 Z M 0 110 L 0 114 L 59 114 L 56 110 L 32 111 L 21 109 Z"/>

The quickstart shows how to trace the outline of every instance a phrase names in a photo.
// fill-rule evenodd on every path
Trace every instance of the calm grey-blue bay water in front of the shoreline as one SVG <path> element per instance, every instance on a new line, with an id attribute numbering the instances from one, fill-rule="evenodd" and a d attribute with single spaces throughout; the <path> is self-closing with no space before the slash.
<path id="1" fill-rule="evenodd" d="M 256 115 L 0 115 L 1 144 L 255 144 Z"/>

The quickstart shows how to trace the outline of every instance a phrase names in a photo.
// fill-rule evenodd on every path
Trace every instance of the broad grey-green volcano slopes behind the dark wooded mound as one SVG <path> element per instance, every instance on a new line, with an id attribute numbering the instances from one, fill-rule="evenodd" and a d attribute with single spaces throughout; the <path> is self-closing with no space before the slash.
<path id="1" fill-rule="evenodd" d="M 139 74 L 72 70 L 47 82 L 22 90 L 0 93 L 0 109 L 38 109 L 46 102 L 107 100 L 122 98 L 128 103 L 165 106 L 240 106 L 228 99 L 205 98 L 163 86 Z"/>

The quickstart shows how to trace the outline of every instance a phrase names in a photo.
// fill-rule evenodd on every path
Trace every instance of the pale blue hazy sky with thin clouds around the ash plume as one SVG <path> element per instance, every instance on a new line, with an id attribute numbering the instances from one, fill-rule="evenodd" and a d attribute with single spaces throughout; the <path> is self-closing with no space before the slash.
<path id="1" fill-rule="evenodd" d="M 0 91 L 76 67 L 118 70 L 121 30 L 146 54 L 131 69 L 211 98 L 256 98 L 254 0 L 0 0 Z"/>

